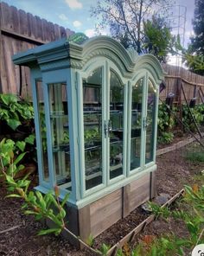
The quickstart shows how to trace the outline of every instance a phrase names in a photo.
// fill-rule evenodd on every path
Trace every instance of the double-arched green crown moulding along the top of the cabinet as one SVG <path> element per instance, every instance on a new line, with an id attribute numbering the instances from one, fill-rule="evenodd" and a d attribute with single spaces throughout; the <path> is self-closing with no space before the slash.
<path id="1" fill-rule="evenodd" d="M 15 64 L 36 67 L 41 71 L 61 68 L 83 69 L 88 62 L 104 58 L 113 62 L 124 78 L 133 77 L 143 69 L 159 83 L 163 80 L 163 68 L 156 57 L 151 54 L 138 55 L 133 48 L 127 50 L 109 36 L 97 36 L 82 44 L 68 42 L 67 39 L 50 42 L 27 52 L 13 56 Z"/>

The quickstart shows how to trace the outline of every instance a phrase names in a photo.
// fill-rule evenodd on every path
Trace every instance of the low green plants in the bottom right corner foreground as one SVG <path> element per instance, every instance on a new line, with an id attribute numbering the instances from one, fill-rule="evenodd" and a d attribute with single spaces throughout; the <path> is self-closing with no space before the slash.
<path id="1" fill-rule="evenodd" d="M 150 203 L 152 212 L 157 217 L 163 217 L 167 221 L 169 217 L 172 217 L 184 223 L 188 230 L 188 237 L 177 237 L 174 233 L 164 234 L 158 239 L 154 236 L 147 239 L 147 236 L 144 236 L 143 242 L 133 250 L 131 255 L 186 255 L 186 249 L 192 251 L 194 246 L 204 243 L 204 186 L 200 189 L 197 185 L 193 188 L 185 186 L 182 205 L 183 209 L 180 206 L 180 208 L 170 210 Z"/>

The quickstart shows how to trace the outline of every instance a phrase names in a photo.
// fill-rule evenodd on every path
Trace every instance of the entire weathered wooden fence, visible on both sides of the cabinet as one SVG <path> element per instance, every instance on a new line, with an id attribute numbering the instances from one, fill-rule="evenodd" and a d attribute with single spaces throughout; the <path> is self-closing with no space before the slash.
<path id="1" fill-rule="evenodd" d="M 57 24 L 33 16 L 7 3 L 0 3 L 0 93 L 15 93 L 31 98 L 29 68 L 15 66 L 11 56 L 46 42 L 68 37 L 74 32 Z M 163 65 L 166 71 L 166 89 L 161 93 L 165 100 L 169 93 L 175 94 L 174 102 L 184 101 L 182 86 L 188 102 L 204 102 L 204 77 L 182 67 Z M 181 86 L 182 85 L 182 86 Z"/>

